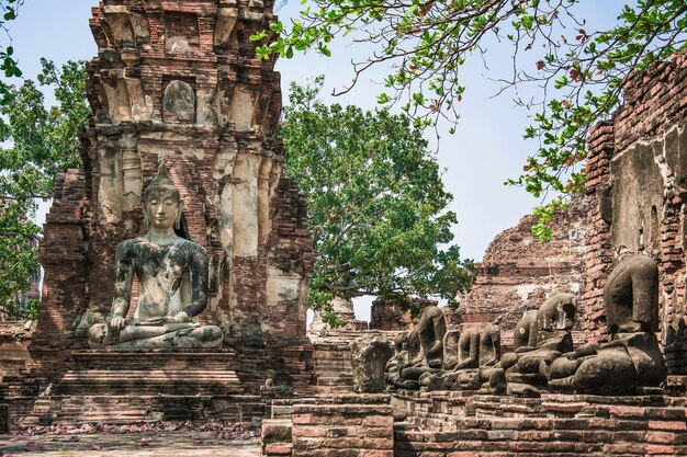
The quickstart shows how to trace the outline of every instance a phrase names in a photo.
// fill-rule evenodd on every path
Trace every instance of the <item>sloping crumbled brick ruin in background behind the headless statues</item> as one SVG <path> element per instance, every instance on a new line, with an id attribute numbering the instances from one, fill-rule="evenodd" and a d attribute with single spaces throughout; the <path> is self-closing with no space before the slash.
<path id="1" fill-rule="evenodd" d="M 478 264 L 471 292 L 455 311 L 447 310 L 449 328 L 481 330 L 489 322 L 502 329 L 504 350 L 513 346 L 513 329 L 522 313 L 536 310 L 555 292 L 581 296 L 584 290 L 585 213 L 581 201 L 556 214 L 552 240 L 532 235 L 536 224 L 525 216 L 517 226 L 496 236 Z M 582 320 L 582 310 L 578 309 Z M 579 325 L 578 325 L 579 327 Z M 581 333 L 575 334 L 579 340 Z"/>

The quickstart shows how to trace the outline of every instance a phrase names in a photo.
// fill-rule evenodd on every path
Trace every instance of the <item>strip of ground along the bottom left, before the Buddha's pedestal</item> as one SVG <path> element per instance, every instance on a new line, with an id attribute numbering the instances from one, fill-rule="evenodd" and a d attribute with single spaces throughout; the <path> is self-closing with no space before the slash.
<path id="1" fill-rule="evenodd" d="M 259 457 L 258 439 L 224 439 L 209 432 L 92 435 L 0 435 L 0 456 L 22 457 Z"/>

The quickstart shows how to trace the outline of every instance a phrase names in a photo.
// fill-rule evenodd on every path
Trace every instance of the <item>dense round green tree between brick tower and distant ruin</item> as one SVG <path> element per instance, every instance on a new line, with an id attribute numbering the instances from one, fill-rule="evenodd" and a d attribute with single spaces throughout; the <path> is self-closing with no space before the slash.
<path id="1" fill-rule="evenodd" d="M 317 100 L 322 82 L 291 85 L 280 127 L 286 174 L 308 201 L 309 305 L 327 310 L 334 297 L 362 295 L 452 301 L 474 271 L 448 245 L 452 196 L 421 130 L 387 110 L 327 106 Z"/>

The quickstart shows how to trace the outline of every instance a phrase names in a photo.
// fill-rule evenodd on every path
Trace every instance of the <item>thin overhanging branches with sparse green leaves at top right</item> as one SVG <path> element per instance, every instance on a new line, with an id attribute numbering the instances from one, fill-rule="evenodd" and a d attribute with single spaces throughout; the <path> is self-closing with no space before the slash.
<path id="1" fill-rule="evenodd" d="M 494 41 L 511 45 L 513 73 L 503 88 L 533 82 L 540 96 L 518 100 L 536 111 L 526 138 L 539 140 L 523 174 L 508 180 L 534 196 L 548 191 L 568 195 L 586 176 L 586 137 L 589 127 L 618 106 L 621 81 L 631 71 L 665 60 L 687 46 L 687 2 L 637 0 L 618 12 L 608 30 L 590 31 L 579 16 L 593 0 L 312 0 L 290 26 L 270 25 L 280 36 L 266 42 L 258 57 L 292 57 L 315 48 L 329 56 L 335 37 L 350 35 L 369 53 L 354 62 L 354 79 L 379 64 L 390 64 L 381 103 L 401 101 L 419 124 L 458 119 L 458 106 L 468 82 L 461 67 L 470 58 L 488 59 Z M 539 208 L 544 220 L 556 199 Z M 545 226 L 538 227 L 543 238 Z"/>

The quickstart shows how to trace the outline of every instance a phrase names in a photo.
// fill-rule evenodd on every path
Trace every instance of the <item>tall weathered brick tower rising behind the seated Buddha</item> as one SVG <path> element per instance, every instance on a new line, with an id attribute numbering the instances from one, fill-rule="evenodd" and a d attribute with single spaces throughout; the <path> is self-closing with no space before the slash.
<path id="1" fill-rule="evenodd" d="M 272 7 L 109 0 L 93 8 L 99 54 L 87 67 L 94 115 L 82 137 L 85 173 L 80 187 L 63 186 L 78 194 L 74 210 L 65 208 L 67 193 L 55 198 L 52 212 L 71 219 L 58 228 L 57 216 L 48 216 L 34 351 L 79 349 L 89 327 L 109 313 L 115 247 L 146 232 L 142 191 L 161 164 L 184 205 L 178 235 L 210 258 L 200 321 L 225 332 L 224 347 L 236 351 L 249 388 L 271 368 L 280 374 L 274 382 L 309 385 L 306 208 L 295 184 L 282 179 L 282 146 L 272 138 L 281 111 L 274 59 L 256 59 L 261 43 L 248 39 L 274 20 Z M 134 284 L 132 315 L 136 290 Z M 55 369 L 43 361 L 42 377 L 64 373 L 65 357 L 52 359 Z"/>

